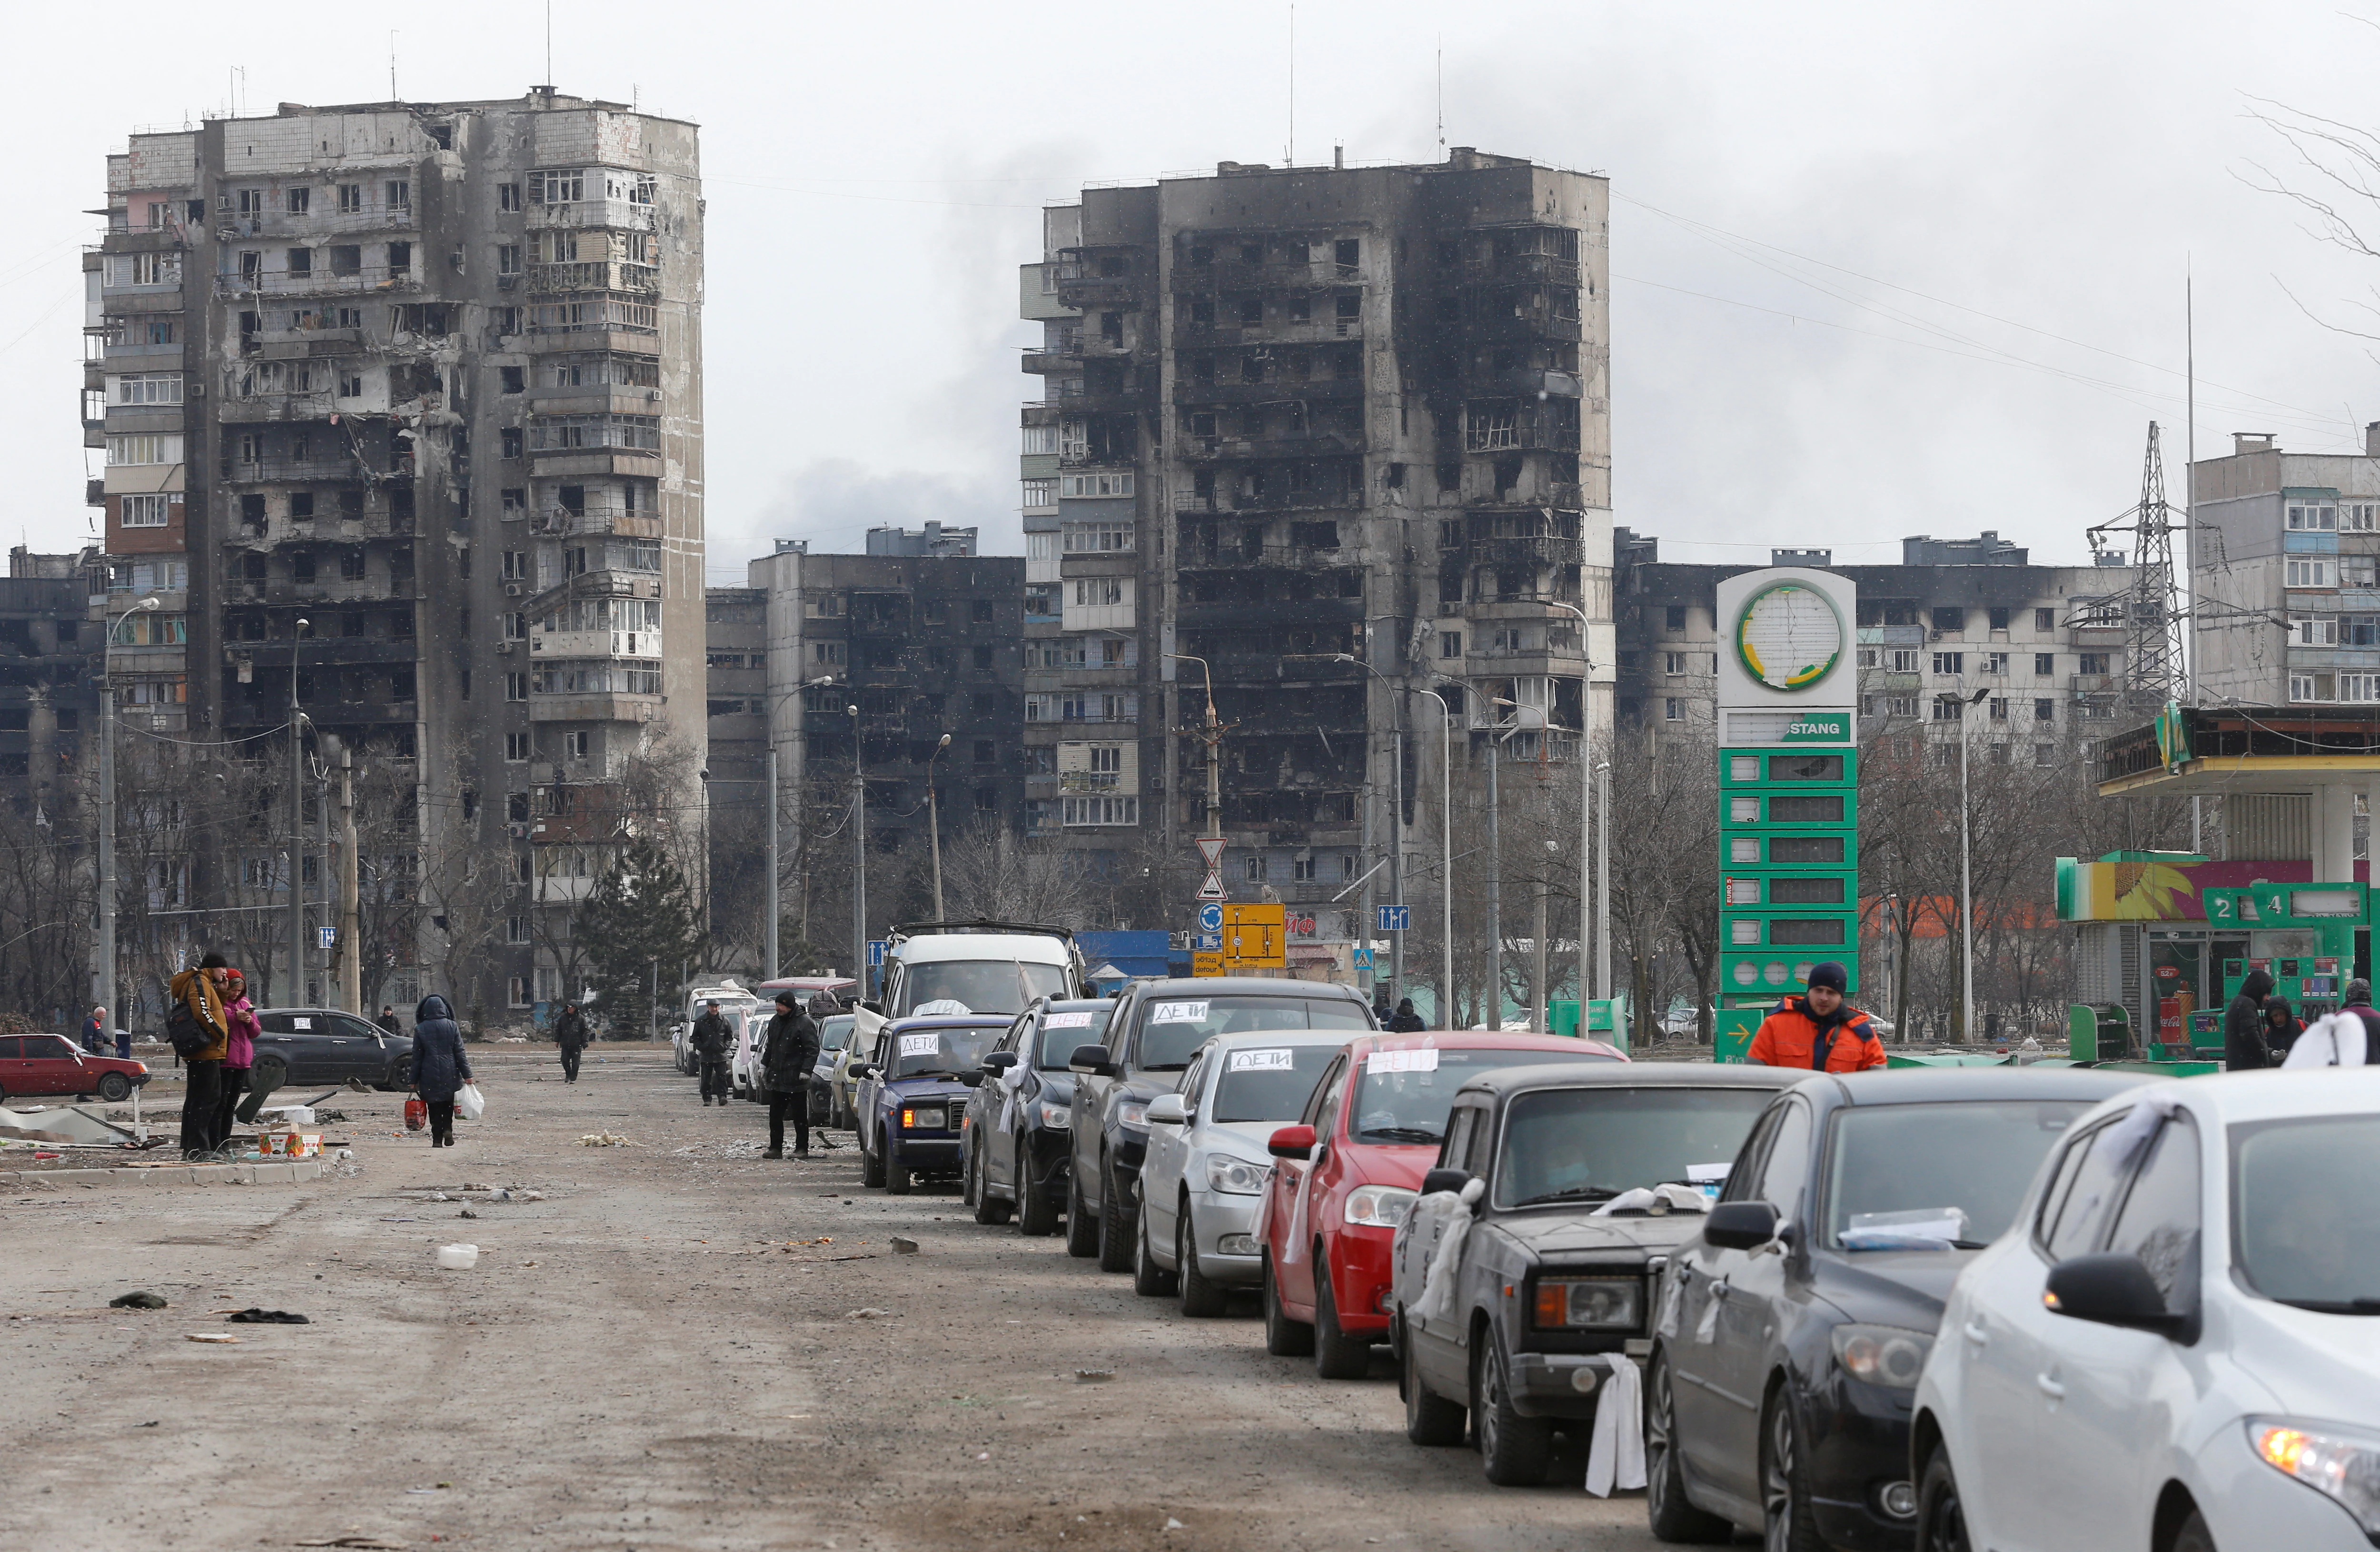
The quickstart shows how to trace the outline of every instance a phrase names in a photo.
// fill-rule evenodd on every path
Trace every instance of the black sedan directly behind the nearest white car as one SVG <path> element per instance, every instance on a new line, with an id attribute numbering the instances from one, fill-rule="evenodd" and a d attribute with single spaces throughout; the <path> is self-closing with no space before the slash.
<path id="1" fill-rule="evenodd" d="M 2068 1121 L 2142 1078 L 2049 1066 L 1806 1078 L 1671 1262 L 1647 1366 L 1661 1540 L 1909 1547 L 1909 1416 L 1942 1300 Z"/>

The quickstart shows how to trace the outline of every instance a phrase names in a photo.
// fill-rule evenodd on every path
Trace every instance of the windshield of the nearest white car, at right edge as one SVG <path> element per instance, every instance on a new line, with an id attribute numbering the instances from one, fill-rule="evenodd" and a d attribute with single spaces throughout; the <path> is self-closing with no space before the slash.
<path id="1" fill-rule="evenodd" d="M 2268 1300 L 2380 1314 L 2380 1200 L 2325 1183 L 2370 1181 L 2380 1116 L 2309 1116 L 2232 1128 L 2232 1245 Z"/>

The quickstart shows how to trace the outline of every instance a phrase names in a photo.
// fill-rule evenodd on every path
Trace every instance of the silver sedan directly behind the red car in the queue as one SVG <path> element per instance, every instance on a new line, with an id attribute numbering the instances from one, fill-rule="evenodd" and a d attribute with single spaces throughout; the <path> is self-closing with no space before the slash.
<path id="1" fill-rule="evenodd" d="M 1183 1314 L 1214 1316 L 1226 1290 L 1264 1278 L 1254 1240 L 1273 1166 L 1264 1145 L 1304 1114 L 1314 1081 L 1357 1033 L 1216 1035 L 1180 1085 L 1150 1102 L 1133 1293 L 1180 1293 Z"/>

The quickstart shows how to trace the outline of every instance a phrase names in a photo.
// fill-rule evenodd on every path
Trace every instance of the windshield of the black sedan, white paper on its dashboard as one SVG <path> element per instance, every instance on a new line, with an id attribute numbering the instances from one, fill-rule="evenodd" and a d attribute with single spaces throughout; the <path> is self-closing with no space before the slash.
<path id="1" fill-rule="evenodd" d="M 1835 1250 L 1980 1250 L 2082 1100 L 1854 1104 L 1835 1114 L 1825 1243 Z"/>

